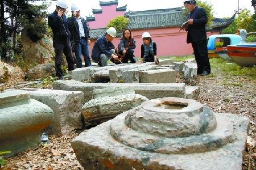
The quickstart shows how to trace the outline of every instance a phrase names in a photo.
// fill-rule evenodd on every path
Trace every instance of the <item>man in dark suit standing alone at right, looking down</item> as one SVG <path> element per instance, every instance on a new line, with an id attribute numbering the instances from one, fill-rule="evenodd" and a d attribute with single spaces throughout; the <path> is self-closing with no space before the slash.
<path id="1" fill-rule="evenodd" d="M 196 1 L 185 1 L 184 5 L 190 11 L 186 28 L 188 31 L 187 43 L 191 43 L 194 50 L 197 74 L 208 75 L 210 74 L 210 62 L 205 31 L 205 24 L 208 22 L 207 14 L 204 8 L 196 6 Z"/>

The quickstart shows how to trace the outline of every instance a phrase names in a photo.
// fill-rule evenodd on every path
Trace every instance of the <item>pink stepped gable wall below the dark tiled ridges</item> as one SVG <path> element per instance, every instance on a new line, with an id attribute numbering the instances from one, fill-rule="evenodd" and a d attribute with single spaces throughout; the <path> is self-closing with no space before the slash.
<path id="1" fill-rule="evenodd" d="M 95 21 L 87 22 L 90 29 L 105 28 L 111 19 L 125 16 L 125 11 L 116 11 L 117 5 L 102 6 L 102 14 L 94 14 Z"/>

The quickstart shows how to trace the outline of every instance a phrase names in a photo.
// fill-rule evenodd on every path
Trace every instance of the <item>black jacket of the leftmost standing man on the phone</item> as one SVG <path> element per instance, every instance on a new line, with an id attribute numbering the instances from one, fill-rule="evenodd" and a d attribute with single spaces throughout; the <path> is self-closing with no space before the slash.
<path id="1" fill-rule="evenodd" d="M 64 14 L 61 17 L 57 14 L 58 12 L 54 11 L 48 16 L 48 25 L 53 32 L 53 44 L 68 44 L 70 42 L 70 32 L 67 18 Z"/>

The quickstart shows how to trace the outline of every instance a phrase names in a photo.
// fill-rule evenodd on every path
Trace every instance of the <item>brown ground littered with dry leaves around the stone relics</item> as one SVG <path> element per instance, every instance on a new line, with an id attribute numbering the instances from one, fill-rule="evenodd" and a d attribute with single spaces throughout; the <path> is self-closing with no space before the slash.
<path id="1" fill-rule="evenodd" d="M 216 77 L 197 76 L 196 85 L 200 87 L 199 101 L 219 113 L 233 113 L 250 118 L 250 130 L 243 156 L 242 170 L 256 169 L 256 84 L 242 76 L 230 76 L 221 73 L 220 69 L 212 70 Z M 176 75 L 176 83 L 184 83 L 181 75 Z M 228 84 L 228 85 L 227 85 Z M 187 86 L 189 86 L 187 84 Z M 70 141 L 82 130 L 73 131 L 65 136 L 49 136 L 46 146 L 32 148 L 19 155 L 6 158 L 5 169 L 84 169 L 76 160 Z M 0 168 L 0 169 L 3 169 Z"/>

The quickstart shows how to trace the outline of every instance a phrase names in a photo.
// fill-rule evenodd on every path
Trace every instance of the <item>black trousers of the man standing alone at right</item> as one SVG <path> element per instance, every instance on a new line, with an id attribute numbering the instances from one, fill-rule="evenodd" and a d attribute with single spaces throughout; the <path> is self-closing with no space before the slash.
<path id="1" fill-rule="evenodd" d="M 191 44 L 196 58 L 197 73 L 201 74 L 203 71 L 207 71 L 210 74 L 207 40 L 192 42 Z"/>

